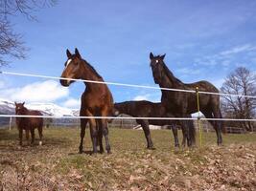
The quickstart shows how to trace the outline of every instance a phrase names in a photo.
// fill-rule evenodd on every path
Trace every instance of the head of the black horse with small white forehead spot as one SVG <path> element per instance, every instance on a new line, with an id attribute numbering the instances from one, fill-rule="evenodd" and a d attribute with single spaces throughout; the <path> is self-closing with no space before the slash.
<path id="1" fill-rule="evenodd" d="M 151 70 L 154 83 L 156 84 L 159 84 L 162 80 L 162 75 L 164 73 L 164 57 L 165 54 L 156 56 L 154 56 L 152 53 L 150 54 Z"/>

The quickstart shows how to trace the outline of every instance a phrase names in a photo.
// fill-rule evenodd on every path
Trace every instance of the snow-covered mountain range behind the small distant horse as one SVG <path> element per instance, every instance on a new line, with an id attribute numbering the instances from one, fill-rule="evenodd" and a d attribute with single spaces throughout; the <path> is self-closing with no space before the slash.
<path id="1" fill-rule="evenodd" d="M 25 107 L 38 110 L 45 116 L 73 117 L 79 115 L 79 110 L 60 107 L 53 103 L 26 103 Z M 0 99 L 0 114 L 15 114 L 14 102 Z"/>

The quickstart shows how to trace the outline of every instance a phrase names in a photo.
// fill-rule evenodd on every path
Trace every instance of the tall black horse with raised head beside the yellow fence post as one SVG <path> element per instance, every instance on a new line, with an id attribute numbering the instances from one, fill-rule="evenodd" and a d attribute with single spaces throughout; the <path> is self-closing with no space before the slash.
<path id="1" fill-rule="evenodd" d="M 219 90 L 208 81 L 198 81 L 195 83 L 186 84 L 175 77 L 175 75 L 167 68 L 164 63 L 164 55 L 154 56 L 150 54 L 151 70 L 154 82 L 162 88 L 173 88 L 195 91 L 198 87 L 199 91 L 219 93 Z M 194 93 L 174 92 L 161 90 L 161 102 L 167 108 L 168 112 L 175 114 L 177 117 L 190 117 L 191 114 L 198 112 L 197 95 Z M 220 96 L 216 95 L 199 95 L 200 112 L 207 118 L 221 118 Z M 222 122 L 212 121 L 217 134 L 217 143 L 222 143 L 221 131 L 224 130 Z M 188 129 L 189 136 L 188 144 L 193 144 L 195 140 L 195 131 L 193 123 L 188 124 L 188 121 L 183 121 L 183 125 Z M 182 126 L 183 126 L 182 125 Z M 193 130 L 193 131 L 191 131 Z"/>

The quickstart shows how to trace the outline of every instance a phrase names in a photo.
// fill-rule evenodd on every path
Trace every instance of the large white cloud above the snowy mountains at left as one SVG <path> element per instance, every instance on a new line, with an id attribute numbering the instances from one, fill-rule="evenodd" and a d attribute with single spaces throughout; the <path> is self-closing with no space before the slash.
<path id="1" fill-rule="evenodd" d="M 68 88 L 61 87 L 57 81 L 35 82 L 24 87 L 2 89 L 0 95 L 12 101 L 55 101 L 69 95 Z"/>

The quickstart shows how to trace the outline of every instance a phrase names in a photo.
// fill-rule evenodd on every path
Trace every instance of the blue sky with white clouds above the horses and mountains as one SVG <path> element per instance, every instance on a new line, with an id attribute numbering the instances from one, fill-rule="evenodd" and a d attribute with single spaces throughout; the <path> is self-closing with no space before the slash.
<path id="1" fill-rule="evenodd" d="M 239 66 L 256 70 L 256 1 L 65 0 L 36 12 L 38 22 L 12 18 L 30 48 L 3 71 L 59 76 L 65 50 L 80 50 L 105 81 L 152 85 L 149 54 L 184 82 L 217 87 Z M 115 101 L 160 100 L 160 91 L 109 86 Z M 0 98 L 78 108 L 82 83 L 3 75 Z"/>

